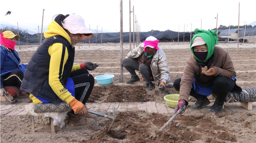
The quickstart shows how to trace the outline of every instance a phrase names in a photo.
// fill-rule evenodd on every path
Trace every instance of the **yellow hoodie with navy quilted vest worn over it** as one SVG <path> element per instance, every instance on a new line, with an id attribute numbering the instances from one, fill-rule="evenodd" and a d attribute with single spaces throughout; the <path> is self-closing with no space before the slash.
<path id="1" fill-rule="evenodd" d="M 81 69 L 73 65 L 75 47 L 67 32 L 55 21 L 44 32 L 45 40 L 30 59 L 21 89 L 29 92 L 34 103 L 42 103 L 37 98 L 44 98 L 59 104 L 63 100 L 69 104 L 74 97 L 65 88 L 71 71 Z"/>

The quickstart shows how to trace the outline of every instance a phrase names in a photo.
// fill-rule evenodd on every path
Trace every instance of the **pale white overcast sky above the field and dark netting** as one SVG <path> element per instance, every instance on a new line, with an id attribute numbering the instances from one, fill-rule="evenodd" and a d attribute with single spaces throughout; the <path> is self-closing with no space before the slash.
<path id="1" fill-rule="evenodd" d="M 206 2 L 207 1 L 207 2 Z M 256 20 L 256 0 L 131 0 L 131 11 L 134 6 L 134 17 L 140 24 L 141 31 L 192 31 L 201 27 L 208 30 L 218 26 L 238 25 L 238 4 L 240 2 L 240 26 Z M 1 0 L 0 20 L 31 31 L 41 32 L 42 13 L 43 27 L 47 27 L 56 14 L 81 15 L 86 27 L 98 31 L 120 31 L 120 0 Z M 10 15 L 5 16 L 7 11 Z M 216 19 L 215 19 L 216 18 Z M 123 0 L 123 29 L 129 32 L 129 0 Z M 133 12 L 131 13 L 131 31 L 133 31 Z"/>

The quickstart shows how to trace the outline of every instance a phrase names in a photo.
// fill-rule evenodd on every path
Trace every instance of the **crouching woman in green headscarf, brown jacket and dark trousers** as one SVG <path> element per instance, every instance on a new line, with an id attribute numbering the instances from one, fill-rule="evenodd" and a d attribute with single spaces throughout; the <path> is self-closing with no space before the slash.
<path id="1" fill-rule="evenodd" d="M 207 96 L 215 92 L 217 97 L 207 113 L 220 113 L 227 93 L 232 89 L 241 92 L 236 85 L 236 71 L 227 50 L 218 45 L 216 31 L 195 29 L 190 49 L 192 54 L 187 59 L 182 78 L 173 82 L 176 90 L 180 91 L 179 103 L 174 113 L 180 109 L 183 113 L 188 105 L 189 95 L 197 99 L 191 109 L 198 110 L 209 105 Z"/>

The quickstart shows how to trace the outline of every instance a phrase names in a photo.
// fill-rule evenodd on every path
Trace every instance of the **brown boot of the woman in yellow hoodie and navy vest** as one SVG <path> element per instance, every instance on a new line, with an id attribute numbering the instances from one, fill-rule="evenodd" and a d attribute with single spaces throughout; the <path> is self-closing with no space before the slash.
<path id="1" fill-rule="evenodd" d="M 94 124 L 94 119 L 82 117 L 82 115 L 74 115 L 69 113 L 68 115 L 68 129 L 82 129 L 85 127 L 89 127 L 90 125 Z"/>

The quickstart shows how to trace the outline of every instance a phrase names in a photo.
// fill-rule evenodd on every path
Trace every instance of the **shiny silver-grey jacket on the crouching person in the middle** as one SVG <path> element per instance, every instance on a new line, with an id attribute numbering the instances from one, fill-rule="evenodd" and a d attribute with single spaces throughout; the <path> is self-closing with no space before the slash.
<path id="1" fill-rule="evenodd" d="M 139 58 L 142 54 L 144 54 L 143 47 L 144 43 L 141 43 L 138 47 L 130 51 L 125 58 Z M 165 53 L 162 49 L 159 48 L 159 50 L 155 51 L 150 67 L 155 81 L 158 80 L 160 83 L 163 81 L 165 84 L 170 82 L 170 71 Z"/>

